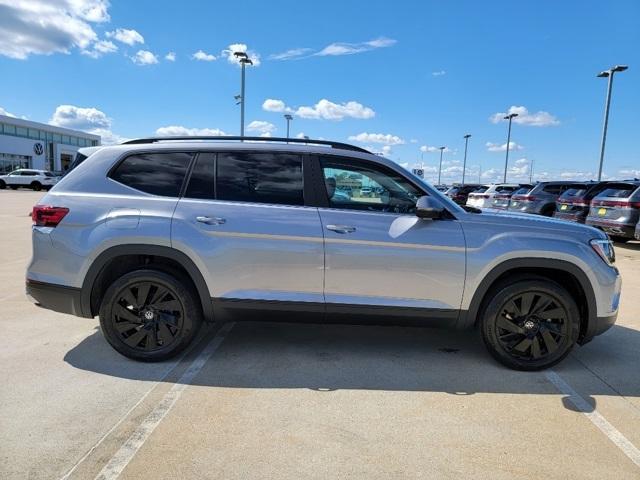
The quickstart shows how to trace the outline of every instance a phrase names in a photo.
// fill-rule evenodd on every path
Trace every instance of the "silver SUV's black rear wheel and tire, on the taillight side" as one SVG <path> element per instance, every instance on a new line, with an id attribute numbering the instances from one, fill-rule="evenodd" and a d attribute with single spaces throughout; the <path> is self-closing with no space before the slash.
<path id="1" fill-rule="evenodd" d="M 145 362 L 177 355 L 202 324 L 200 301 L 190 282 L 179 274 L 150 269 L 113 282 L 99 315 L 109 344 L 125 357 Z"/>

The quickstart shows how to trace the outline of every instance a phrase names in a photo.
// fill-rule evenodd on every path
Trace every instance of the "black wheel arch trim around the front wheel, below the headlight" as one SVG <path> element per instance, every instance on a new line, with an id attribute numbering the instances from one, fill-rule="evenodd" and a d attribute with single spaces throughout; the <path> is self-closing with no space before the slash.
<path id="1" fill-rule="evenodd" d="M 585 343 L 593 335 L 595 328 L 597 305 L 593 287 L 587 275 L 577 265 L 551 258 L 517 258 L 506 260 L 495 266 L 480 281 L 471 299 L 469 308 L 461 315 L 460 328 L 468 328 L 477 324 L 478 315 L 488 294 L 498 282 L 517 274 L 532 274 L 546 277 L 566 288 L 575 297 L 580 310 L 580 335 L 578 343 Z"/>

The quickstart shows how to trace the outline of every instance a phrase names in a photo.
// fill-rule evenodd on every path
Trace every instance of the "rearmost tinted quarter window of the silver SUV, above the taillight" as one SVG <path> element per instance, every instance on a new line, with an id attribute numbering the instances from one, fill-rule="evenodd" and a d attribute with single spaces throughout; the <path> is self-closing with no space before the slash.
<path id="1" fill-rule="evenodd" d="M 191 157 L 180 152 L 132 155 L 118 165 L 111 178 L 153 195 L 177 197 Z"/>

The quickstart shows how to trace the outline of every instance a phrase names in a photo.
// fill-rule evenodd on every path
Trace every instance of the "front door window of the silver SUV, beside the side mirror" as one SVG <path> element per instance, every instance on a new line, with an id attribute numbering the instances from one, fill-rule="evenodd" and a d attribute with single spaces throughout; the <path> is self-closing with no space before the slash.
<path id="1" fill-rule="evenodd" d="M 400 174 L 357 160 L 321 159 L 327 199 L 332 208 L 415 213 L 422 195 Z"/>

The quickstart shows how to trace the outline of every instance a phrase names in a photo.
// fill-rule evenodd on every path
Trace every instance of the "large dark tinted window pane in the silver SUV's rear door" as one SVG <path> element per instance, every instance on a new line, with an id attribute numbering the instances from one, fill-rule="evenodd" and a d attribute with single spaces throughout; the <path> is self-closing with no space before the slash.
<path id="1" fill-rule="evenodd" d="M 281 153 L 219 153 L 218 200 L 304 205 L 302 159 Z"/>

